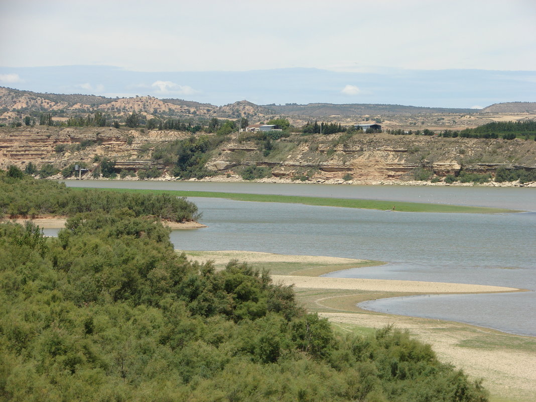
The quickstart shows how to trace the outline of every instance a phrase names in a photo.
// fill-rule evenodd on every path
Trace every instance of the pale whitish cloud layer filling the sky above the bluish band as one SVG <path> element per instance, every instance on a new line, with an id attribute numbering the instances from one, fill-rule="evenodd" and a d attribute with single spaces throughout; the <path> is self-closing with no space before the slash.
<path id="1" fill-rule="evenodd" d="M 2 0 L 4 66 L 534 70 L 534 0 Z"/>

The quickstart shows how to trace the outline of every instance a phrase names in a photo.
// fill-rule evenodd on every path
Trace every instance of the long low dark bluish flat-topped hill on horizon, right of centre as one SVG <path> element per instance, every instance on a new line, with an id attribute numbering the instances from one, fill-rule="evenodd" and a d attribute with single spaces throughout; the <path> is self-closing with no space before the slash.
<path id="1" fill-rule="evenodd" d="M 329 116 L 362 116 L 362 115 L 414 115 L 423 113 L 475 113 L 475 109 L 429 108 L 403 105 L 378 105 L 374 103 L 347 103 L 334 105 L 333 103 L 308 103 L 307 105 L 264 105 L 282 115 L 300 115 L 311 117 Z"/>

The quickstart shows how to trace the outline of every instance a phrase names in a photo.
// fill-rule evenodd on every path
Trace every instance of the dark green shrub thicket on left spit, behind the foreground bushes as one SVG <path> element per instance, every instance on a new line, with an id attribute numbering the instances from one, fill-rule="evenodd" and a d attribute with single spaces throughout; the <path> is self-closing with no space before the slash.
<path id="1" fill-rule="evenodd" d="M 0 217 L 72 216 L 81 212 L 108 213 L 122 208 L 129 209 L 136 217 L 152 215 L 177 222 L 199 217 L 195 204 L 168 194 L 76 191 L 63 183 L 0 173 Z"/>

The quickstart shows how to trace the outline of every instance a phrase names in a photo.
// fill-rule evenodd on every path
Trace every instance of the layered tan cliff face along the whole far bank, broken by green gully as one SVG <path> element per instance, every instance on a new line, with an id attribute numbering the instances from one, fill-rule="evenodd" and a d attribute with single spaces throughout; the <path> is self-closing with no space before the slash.
<path id="1" fill-rule="evenodd" d="M 0 168 L 28 162 L 38 168 L 51 163 L 63 168 L 85 162 L 90 169 L 99 158 L 115 159 L 116 169 L 139 170 L 157 167 L 164 174 L 172 166 L 153 161 L 159 144 L 185 139 L 180 131 L 117 130 L 114 128 L 57 128 L 47 126 L 1 128 Z M 170 155 L 169 160 L 175 160 Z M 264 167 L 273 177 L 307 176 L 317 180 L 408 180 L 424 168 L 437 176 L 456 174 L 460 169 L 494 173 L 500 166 L 536 168 L 533 140 L 438 138 L 393 136 L 385 133 L 345 135 L 294 135 L 272 142 L 265 155 L 263 144 L 235 133 L 212 151 L 206 164 L 220 174 L 235 174 L 247 167 Z"/>

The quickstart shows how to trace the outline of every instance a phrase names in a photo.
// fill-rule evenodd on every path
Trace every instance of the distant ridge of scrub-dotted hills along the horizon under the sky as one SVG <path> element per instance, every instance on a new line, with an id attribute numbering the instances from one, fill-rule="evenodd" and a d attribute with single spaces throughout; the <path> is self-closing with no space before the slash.
<path id="1" fill-rule="evenodd" d="M 251 121 L 270 120 L 276 116 L 311 118 L 352 118 L 365 115 L 373 116 L 409 116 L 426 114 L 479 114 L 479 113 L 523 113 L 536 112 L 536 102 L 496 103 L 484 109 L 419 107 L 405 105 L 389 105 L 376 103 L 308 103 L 298 105 L 256 105 L 247 100 L 214 106 L 211 103 L 200 103 L 183 99 L 159 99 L 154 96 L 135 96 L 132 98 L 106 98 L 106 96 L 84 94 L 54 94 L 21 91 L 0 87 L 0 118 L 13 120 L 17 115 L 31 114 L 39 116 L 48 111 L 54 117 L 70 117 L 105 111 L 110 116 L 124 117 L 136 111 L 147 118 L 151 116 L 165 118 L 177 117 L 248 117 Z"/>

